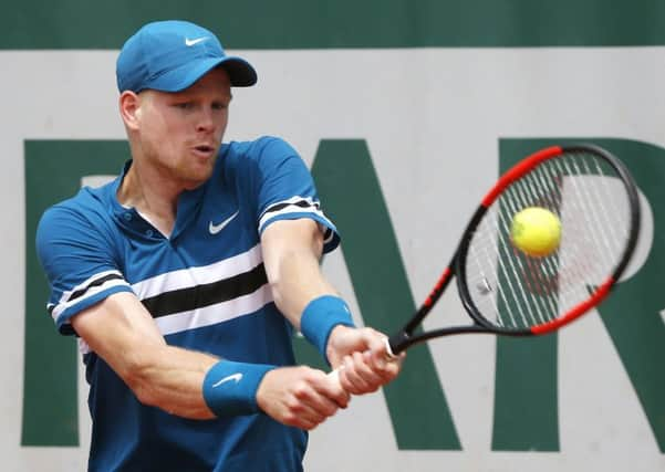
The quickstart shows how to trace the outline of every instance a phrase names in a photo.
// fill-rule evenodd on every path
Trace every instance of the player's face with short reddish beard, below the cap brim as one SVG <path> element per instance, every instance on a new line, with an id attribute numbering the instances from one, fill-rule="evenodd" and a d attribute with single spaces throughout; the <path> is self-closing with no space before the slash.
<path id="1" fill-rule="evenodd" d="M 183 92 L 139 94 L 138 151 L 144 165 L 191 189 L 212 174 L 228 123 L 231 85 L 215 69 Z"/>

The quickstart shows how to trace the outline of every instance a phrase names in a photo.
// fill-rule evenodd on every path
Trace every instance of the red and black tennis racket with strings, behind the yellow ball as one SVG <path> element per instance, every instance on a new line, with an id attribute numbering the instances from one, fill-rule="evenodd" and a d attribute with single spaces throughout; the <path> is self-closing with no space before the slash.
<path id="1" fill-rule="evenodd" d="M 544 208 L 560 221 L 560 242 L 547 255 L 529 255 L 511 238 L 513 216 L 530 207 Z M 610 294 L 634 252 L 638 230 L 635 183 L 612 154 L 592 145 L 534 153 L 482 198 L 425 302 L 387 339 L 388 354 L 456 334 L 554 332 Z M 471 323 L 420 331 L 454 277 Z"/>

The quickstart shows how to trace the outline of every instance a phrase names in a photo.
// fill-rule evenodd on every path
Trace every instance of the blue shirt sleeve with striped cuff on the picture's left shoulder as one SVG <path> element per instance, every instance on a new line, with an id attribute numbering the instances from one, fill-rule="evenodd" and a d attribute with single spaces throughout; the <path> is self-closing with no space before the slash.
<path id="1" fill-rule="evenodd" d="M 132 292 L 113 256 L 110 237 L 82 211 L 49 209 L 37 230 L 37 253 L 51 295 L 46 310 L 61 334 L 75 334 L 70 319 L 117 292 Z"/>

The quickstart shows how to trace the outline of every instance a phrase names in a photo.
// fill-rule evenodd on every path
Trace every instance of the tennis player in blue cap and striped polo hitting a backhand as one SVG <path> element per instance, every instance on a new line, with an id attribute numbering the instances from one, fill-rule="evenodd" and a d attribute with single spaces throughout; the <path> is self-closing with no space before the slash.
<path id="1" fill-rule="evenodd" d="M 300 471 L 306 430 L 399 369 L 320 272 L 335 227 L 285 141 L 221 144 L 257 74 L 210 31 L 146 24 L 116 78 L 131 159 L 37 234 L 48 310 L 86 365 L 89 470 Z M 341 386 L 294 366 L 294 329 Z"/>

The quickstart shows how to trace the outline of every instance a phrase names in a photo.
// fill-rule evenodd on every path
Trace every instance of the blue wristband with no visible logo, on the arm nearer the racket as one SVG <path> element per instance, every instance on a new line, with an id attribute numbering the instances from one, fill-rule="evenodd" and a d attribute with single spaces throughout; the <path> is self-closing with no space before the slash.
<path id="1" fill-rule="evenodd" d="M 334 295 L 323 295 L 312 300 L 300 317 L 300 332 L 319 349 L 326 361 L 328 338 L 337 325 L 355 326 L 346 302 Z"/>

